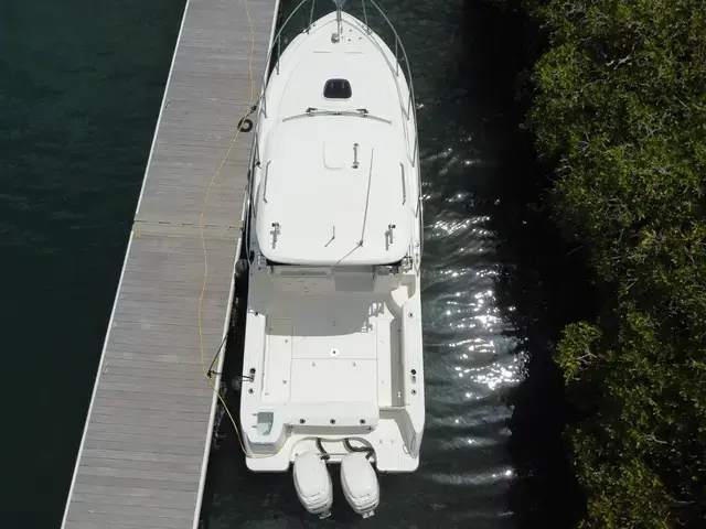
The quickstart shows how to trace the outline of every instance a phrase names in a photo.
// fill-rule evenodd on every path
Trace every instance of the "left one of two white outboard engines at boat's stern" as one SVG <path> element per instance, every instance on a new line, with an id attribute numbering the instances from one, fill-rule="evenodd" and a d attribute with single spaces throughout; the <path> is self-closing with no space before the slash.
<path id="1" fill-rule="evenodd" d="M 327 464 L 315 452 L 295 457 L 295 488 L 299 501 L 312 515 L 327 518 L 333 505 L 333 487 Z"/>

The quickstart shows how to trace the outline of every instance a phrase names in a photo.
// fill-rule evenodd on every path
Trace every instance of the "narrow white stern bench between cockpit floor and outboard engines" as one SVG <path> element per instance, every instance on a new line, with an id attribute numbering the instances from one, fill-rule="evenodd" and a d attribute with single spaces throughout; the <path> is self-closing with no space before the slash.
<path id="1" fill-rule="evenodd" d="M 379 409 L 375 402 L 290 402 L 287 415 L 292 425 L 376 427 Z"/>

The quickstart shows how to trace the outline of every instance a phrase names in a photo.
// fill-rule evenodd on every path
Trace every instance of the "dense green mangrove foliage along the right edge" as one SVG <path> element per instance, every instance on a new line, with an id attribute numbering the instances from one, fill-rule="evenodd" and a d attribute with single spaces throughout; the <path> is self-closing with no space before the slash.
<path id="1" fill-rule="evenodd" d="M 527 119 L 547 204 L 601 300 L 555 350 L 579 525 L 704 527 L 706 0 L 524 9 L 546 39 Z"/>

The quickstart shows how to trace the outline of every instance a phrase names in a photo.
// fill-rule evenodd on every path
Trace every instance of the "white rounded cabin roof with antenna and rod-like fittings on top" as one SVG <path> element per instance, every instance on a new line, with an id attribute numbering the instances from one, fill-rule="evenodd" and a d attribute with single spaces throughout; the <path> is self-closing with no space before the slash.
<path id="1" fill-rule="evenodd" d="M 399 261 L 414 225 L 404 152 L 393 127 L 370 118 L 278 123 L 266 139 L 257 190 L 260 251 L 291 264 Z"/>

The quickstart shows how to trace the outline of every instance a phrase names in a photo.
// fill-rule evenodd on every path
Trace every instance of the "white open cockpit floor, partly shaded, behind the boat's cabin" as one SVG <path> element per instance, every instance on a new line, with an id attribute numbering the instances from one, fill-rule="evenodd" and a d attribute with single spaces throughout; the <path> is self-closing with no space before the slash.
<path id="1" fill-rule="evenodd" d="M 399 325 L 382 296 L 282 296 L 264 354 L 263 402 L 400 402 Z"/>

